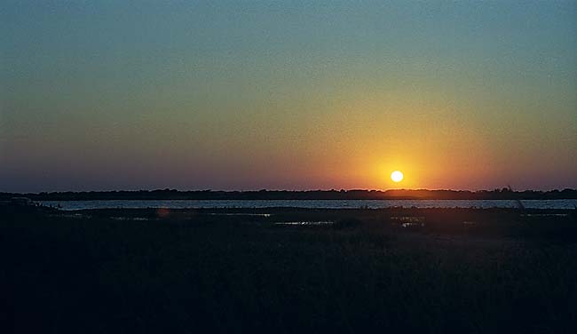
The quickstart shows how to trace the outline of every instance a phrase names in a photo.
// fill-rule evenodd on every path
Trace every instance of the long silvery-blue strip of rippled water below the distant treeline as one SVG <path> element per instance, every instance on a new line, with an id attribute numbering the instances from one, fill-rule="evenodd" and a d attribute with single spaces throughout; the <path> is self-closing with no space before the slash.
<path id="1" fill-rule="evenodd" d="M 526 200 L 529 209 L 574 209 L 577 200 Z M 404 208 L 515 208 L 510 200 L 118 200 L 118 201 L 42 201 L 63 210 L 83 209 L 217 209 L 217 208 L 305 208 L 305 209 L 382 209 Z"/>

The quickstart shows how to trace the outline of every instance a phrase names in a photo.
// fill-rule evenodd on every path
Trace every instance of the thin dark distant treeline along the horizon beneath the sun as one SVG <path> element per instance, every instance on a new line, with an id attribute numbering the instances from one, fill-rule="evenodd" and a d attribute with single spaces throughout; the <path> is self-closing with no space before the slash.
<path id="1" fill-rule="evenodd" d="M 577 199 L 576 189 L 550 191 L 494 190 L 259 190 L 259 191 L 178 191 L 174 189 L 138 191 L 51 192 L 38 194 L 0 193 L 0 199 L 28 197 L 33 201 L 89 201 L 89 200 L 552 200 Z"/>

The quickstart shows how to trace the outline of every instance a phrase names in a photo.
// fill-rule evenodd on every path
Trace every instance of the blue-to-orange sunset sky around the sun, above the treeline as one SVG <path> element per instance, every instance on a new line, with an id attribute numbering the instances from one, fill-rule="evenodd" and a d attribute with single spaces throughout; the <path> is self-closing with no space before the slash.
<path id="1" fill-rule="evenodd" d="M 0 30 L 0 191 L 577 187 L 577 1 L 5 0 Z"/>

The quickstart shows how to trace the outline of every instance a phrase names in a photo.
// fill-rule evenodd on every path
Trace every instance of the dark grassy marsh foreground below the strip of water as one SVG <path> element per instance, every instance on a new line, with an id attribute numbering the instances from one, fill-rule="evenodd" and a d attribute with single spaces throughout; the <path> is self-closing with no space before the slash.
<path id="1" fill-rule="evenodd" d="M 573 211 L 0 213 L 8 331 L 577 328 Z"/>

